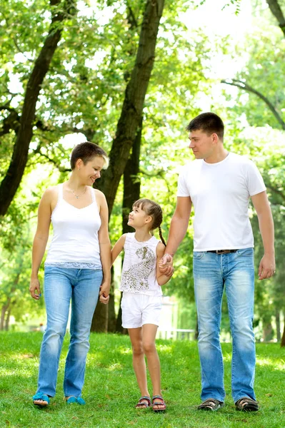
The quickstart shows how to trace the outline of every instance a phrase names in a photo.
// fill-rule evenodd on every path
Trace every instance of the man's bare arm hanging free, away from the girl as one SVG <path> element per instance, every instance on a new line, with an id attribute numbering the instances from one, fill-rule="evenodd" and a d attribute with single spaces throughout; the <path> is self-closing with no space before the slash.
<path id="1" fill-rule="evenodd" d="M 264 245 L 264 256 L 259 264 L 259 280 L 270 278 L 275 272 L 274 223 L 266 192 L 251 196 L 259 219 L 259 230 Z"/>

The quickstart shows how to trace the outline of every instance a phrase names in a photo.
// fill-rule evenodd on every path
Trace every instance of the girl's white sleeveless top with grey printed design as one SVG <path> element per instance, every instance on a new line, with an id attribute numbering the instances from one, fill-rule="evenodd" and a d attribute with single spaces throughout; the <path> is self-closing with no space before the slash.
<path id="1" fill-rule="evenodd" d="M 126 234 L 119 290 L 161 296 L 161 287 L 156 281 L 156 247 L 159 240 L 152 236 L 146 242 L 139 242 L 134 235 Z"/>

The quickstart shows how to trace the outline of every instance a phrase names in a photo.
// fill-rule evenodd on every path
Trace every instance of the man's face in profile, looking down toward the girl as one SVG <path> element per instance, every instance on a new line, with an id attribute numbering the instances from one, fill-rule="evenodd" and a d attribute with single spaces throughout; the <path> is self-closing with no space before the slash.
<path id="1" fill-rule="evenodd" d="M 196 159 L 207 159 L 214 154 L 218 136 L 216 133 L 207 134 L 197 130 L 189 133 L 189 148 L 192 149 Z"/>

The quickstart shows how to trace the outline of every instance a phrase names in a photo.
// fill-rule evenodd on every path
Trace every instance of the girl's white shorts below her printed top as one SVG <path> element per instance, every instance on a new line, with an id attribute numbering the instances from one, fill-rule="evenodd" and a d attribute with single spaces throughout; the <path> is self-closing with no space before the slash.
<path id="1" fill-rule="evenodd" d="M 162 296 L 149 296 L 124 291 L 121 317 L 124 328 L 138 328 L 144 324 L 159 325 Z"/>

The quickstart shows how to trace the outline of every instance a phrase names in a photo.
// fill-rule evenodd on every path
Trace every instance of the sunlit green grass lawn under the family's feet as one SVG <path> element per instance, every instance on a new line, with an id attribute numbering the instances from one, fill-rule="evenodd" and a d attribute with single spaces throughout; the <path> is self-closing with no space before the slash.
<path id="1" fill-rule="evenodd" d="M 64 340 L 56 397 L 46 409 L 33 406 L 41 333 L 0 334 L 0 427 L 24 428 L 284 428 L 285 350 L 257 344 L 256 395 L 260 412 L 236 412 L 231 399 L 231 345 L 223 344 L 226 405 L 219 412 L 198 412 L 200 368 L 196 342 L 158 340 L 165 414 L 134 409 L 139 390 L 131 366 L 129 337 L 91 334 L 83 397 L 86 406 L 62 399 Z"/>

